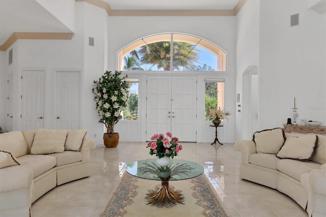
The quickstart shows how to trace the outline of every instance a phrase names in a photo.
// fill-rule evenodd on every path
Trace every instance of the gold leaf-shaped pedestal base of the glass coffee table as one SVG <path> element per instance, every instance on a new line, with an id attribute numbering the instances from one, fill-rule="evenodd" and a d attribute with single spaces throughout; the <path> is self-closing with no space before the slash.
<path id="1" fill-rule="evenodd" d="M 158 189 L 158 191 L 152 190 L 150 191 L 146 199 L 148 200 L 148 204 L 164 206 L 166 203 L 183 203 L 184 197 L 182 196 L 180 191 L 173 191 L 173 189 L 169 186 L 169 180 L 162 180 L 162 185 Z"/>

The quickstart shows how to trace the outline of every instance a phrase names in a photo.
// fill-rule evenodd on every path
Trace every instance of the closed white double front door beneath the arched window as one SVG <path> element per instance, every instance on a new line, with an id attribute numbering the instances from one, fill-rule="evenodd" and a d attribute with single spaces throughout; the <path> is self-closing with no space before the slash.
<path id="1" fill-rule="evenodd" d="M 146 107 L 147 141 L 170 131 L 180 142 L 196 142 L 196 76 L 147 76 Z"/>

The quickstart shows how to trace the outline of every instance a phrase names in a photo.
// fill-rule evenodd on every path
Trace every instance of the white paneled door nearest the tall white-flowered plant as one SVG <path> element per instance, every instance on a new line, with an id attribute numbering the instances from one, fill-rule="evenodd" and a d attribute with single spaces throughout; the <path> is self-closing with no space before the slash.
<path id="1" fill-rule="evenodd" d="M 57 71 L 56 76 L 56 127 L 79 129 L 80 71 Z"/>

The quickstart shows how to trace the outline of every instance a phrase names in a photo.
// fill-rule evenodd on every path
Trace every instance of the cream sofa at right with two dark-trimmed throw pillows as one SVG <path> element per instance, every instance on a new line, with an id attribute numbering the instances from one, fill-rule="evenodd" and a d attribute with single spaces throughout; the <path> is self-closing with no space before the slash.
<path id="1" fill-rule="evenodd" d="M 265 133 L 263 136 L 260 134 L 258 140 L 255 140 L 254 136 L 253 140 L 236 141 L 234 147 L 241 152 L 240 178 L 277 189 L 288 195 L 306 210 L 309 216 L 326 216 L 326 137 L 316 134 L 284 133 L 283 129 L 277 128 L 277 131 L 282 131 L 284 136 L 283 144 L 281 144 L 280 133 L 273 135 L 272 130 L 275 131 L 275 129 L 270 129 L 270 131 L 256 132 Z M 294 143 L 304 141 L 302 138 L 308 138 L 308 136 L 318 138 L 310 159 L 304 156 L 300 148 L 301 146 L 307 148 L 308 142 L 288 145 L 293 141 Z M 277 137 L 279 138 L 274 139 Z M 273 147 L 273 151 L 269 147 L 272 147 L 274 143 L 279 143 L 279 145 Z M 257 144 L 263 144 L 265 147 Z M 282 149 L 286 147 L 288 151 L 296 153 L 298 155 L 296 157 L 304 156 L 302 158 L 306 160 L 296 159 L 295 154 L 292 155 L 289 152 L 287 154 L 292 156 L 280 155 Z M 311 150 L 311 147 L 307 150 Z"/>

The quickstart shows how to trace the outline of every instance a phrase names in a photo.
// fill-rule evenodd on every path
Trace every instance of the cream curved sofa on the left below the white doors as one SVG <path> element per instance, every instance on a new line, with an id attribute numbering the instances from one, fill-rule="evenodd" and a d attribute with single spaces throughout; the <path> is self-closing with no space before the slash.
<path id="1" fill-rule="evenodd" d="M 0 216 L 30 216 L 31 204 L 57 185 L 88 177 L 95 140 L 86 130 L 0 134 Z"/>

